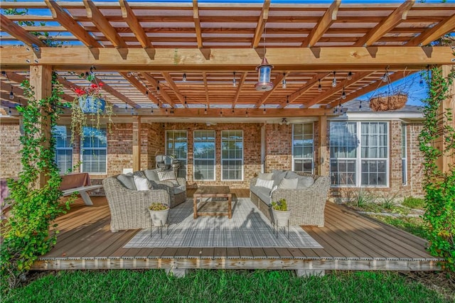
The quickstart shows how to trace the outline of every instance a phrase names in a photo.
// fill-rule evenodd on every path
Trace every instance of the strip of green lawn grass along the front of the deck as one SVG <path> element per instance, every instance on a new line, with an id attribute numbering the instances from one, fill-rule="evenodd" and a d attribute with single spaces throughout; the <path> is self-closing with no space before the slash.
<path id="1" fill-rule="evenodd" d="M 60 271 L 4 294 L 6 302 L 449 302 L 397 272 L 330 272 L 296 277 L 289 270 Z"/>

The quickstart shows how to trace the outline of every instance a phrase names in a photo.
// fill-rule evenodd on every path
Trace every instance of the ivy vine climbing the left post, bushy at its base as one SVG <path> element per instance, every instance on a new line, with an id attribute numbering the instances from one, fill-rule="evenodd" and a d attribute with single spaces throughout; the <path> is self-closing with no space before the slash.
<path id="1" fill-rule="evenodd" d="M 21 141 L 22 170 L 18 179 L 8 180 L 11 189 L 11 216 L 2 226 L 1 284 L 16 287 L 30 270 L 39 255 L 48 253 L 56 243 L 55 218 L 65 212 L 59 205 L 61 177 L 55 165 L 55 139 L 46 136 L 42 128 L 56 125 L 62 107 L 63 89 L 56 75 L 52 77 L 50 97 L 37 100 L 33 87 L 26 80 L 21 86 L 28 99 L 26 106 L 18 106 L 22 114 Z M 39 177 L 48 182 L 40 187 Z M 66 203 L 69 209 L 71 199 Z"/>

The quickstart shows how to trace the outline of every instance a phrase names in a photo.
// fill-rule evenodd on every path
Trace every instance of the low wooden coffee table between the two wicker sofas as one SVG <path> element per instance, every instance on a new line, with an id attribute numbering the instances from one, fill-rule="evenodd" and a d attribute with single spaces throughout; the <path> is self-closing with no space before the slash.
<path id="1" fill-rule="evenodd" d="M 212 199 L 203 201 L 203 198 Z M 222 199 L 218 201 L 216 198 Z M 198 200 L 200 206 L 198 206 Z M 231 219 L 231 202 L 232 194 L 228 186 L 201 186 L 193 194 L 193 218 L 196 219 L 198 216 L 228 216 Z"/>

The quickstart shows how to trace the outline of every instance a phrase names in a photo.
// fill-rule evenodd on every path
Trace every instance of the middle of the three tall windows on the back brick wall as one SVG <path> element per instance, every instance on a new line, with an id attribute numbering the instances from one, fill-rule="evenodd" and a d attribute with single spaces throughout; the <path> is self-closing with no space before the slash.
<path id="1" fill-rule="evenodd" d="M 215 180 L 215 131 L 194 131 L 194 180 Z"/>

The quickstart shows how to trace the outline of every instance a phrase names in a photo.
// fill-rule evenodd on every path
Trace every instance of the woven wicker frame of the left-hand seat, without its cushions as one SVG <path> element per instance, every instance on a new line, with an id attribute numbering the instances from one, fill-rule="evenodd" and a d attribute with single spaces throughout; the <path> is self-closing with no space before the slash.
<path id="1" fill-rule="evenodd" d="M 111 211 L 111 231 L 149 228 L 149 206 L 152 202 L 168 204 L 169 194 L 164 189 L 132 190 L 124 187 L 117 176 L 102 181 Z"/>

